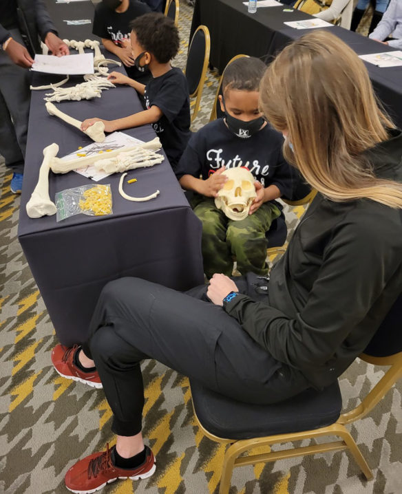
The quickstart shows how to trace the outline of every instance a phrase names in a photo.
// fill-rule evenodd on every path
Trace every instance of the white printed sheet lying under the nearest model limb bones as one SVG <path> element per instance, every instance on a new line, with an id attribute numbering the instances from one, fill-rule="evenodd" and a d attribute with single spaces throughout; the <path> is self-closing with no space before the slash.
<path id="1" fill-rule="evenodd" d="M 67 156 L 64 156 L 61 159 L 71 161 L 76 160 L 76 158 L 85 158 L 85 156 L 92 156 L 94 154 L 99 154 L 99 157 L 107 158 L 108 149 L 114 151 L 114 149 L 132 146 L 137 143 L 140 144 L 141 142 L 144 141 L 128 136 L 127 133 L 113 132 L 109 134 L 103 142 L 92 142 L 92 144 L 88 144 L 82 149 L 77 149 L 74 153 L 67 154 Z M 124 149 L 122 149 L 122 151 L 124 151 Z M 94 180 L 94 182 L 98 182 L 110 175 L 110 173 L 106 173 L 105 171 L 98 171 L 93 164 L 75 171 L 84 177 Z"/>

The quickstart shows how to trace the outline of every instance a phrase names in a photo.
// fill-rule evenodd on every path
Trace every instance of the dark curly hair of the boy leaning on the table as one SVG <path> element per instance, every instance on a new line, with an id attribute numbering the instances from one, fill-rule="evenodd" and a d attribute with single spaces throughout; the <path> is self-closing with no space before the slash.
<path id="1" fill-rule="evenodd" d="M 149 12 L 131 21 L 130 28 L 136 33 L 138 43 L 159 63 L 168 63 L 177 55 L 180 46 L 178 28 L 169 17 Z"/>

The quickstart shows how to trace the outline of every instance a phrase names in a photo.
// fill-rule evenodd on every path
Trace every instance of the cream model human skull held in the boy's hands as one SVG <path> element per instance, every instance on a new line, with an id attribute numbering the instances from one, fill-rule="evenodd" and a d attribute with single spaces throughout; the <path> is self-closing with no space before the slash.
<path id="1" fill-rule="evenodd" d="M 244 219 L 248 215 L 255 193 L 254 177 L 246 168 L 225 170 L 228 180 L 215 198 L 215 206 L 230 219 Z"/>

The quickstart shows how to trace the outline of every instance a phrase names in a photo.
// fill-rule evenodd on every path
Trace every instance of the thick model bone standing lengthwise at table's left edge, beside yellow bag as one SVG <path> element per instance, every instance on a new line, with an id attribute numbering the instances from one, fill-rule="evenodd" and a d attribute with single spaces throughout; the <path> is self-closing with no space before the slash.
<path id="1" fill-rule="evenodd" d="M 27 202 L 26 211 L 30 218 L 40 218 L 45 215 L 54 215 L 56 206 L 49 196 L 49 170 L 52 158 L 59 152 L 59 146 L 55 143 L 43 149 L 43 162 L 39 169 L 39 180 Z"/>

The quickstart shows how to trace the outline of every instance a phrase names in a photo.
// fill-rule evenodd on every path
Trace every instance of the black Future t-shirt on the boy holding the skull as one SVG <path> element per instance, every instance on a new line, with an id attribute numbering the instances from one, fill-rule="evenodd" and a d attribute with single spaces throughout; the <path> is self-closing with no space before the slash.
<path id="1" fill-rule="evenodd" d="M 221 167 L 248 168 L 262 186 L 276 185 L 281 195 L 290 195 L 290 165 L 282 155 L 284 138 L 268 124 L 249 138 L 240 138 L 226 127 L 223 118 L 205 125 L 191 136 L 175 169 L 183 175 L 207 180 Z"/>

